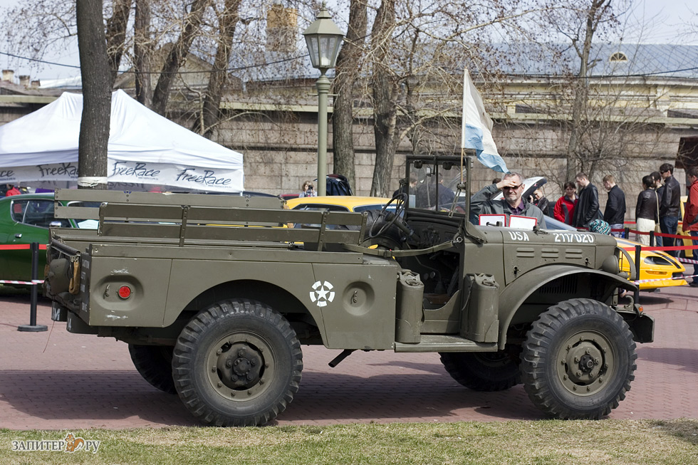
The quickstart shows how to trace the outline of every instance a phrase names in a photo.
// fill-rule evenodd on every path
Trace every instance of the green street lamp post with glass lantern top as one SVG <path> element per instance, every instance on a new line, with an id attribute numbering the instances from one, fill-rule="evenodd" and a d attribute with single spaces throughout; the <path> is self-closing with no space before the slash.
<path id="1" fill-rule="evenodd" d="M 320 70 L 318 89 L 318 195 L 327 193 L 327 95 L 330 80 L 325 73 L 334 68 L 344 33 L 330 18 L 323 4 L 316 20 L 303 31 L 313 68 Z"/>

